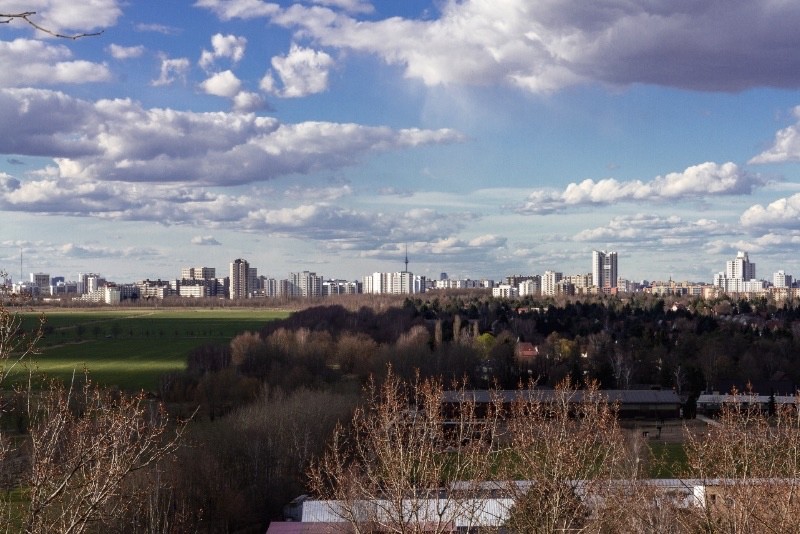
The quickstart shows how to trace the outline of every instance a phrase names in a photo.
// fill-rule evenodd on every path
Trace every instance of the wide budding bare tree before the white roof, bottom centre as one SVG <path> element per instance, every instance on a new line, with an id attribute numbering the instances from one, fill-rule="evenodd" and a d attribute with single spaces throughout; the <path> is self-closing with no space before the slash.
<path id="1" fill-rule="evenodd" d="M 442 386 L 389 373 L 370 382 L 366 404 L 350 427 L 339 425 L 310 485 L 357 533 L 450 532 L 456 518 L 474 516 L 475 495 L 487 479 L 496 419 L 478 421 L 465 391 L 456 413 L 445 414 Z M 496 412 L 494 412 L 496 413 Z M 463 482 L 457 491 L 444 491 Z"/>

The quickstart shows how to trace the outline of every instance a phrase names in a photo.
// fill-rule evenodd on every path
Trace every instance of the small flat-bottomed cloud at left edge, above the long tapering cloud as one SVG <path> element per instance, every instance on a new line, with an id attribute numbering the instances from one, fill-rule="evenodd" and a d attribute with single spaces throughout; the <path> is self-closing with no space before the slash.
<path id="1" fill-rule="evenodd" d="M 0 87 L 104 82 L 111 79 L 105 64 L 72 60 L 63 45 L 14 39 L 0 41 Z"/>

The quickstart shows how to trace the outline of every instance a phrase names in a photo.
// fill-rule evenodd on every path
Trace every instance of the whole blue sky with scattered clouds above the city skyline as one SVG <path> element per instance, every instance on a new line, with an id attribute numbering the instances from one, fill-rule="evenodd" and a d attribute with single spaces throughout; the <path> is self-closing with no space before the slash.
<path id="1" fill-rule="evenodd" d="M 800 3 L 0 0 L 0 269 L 800 277 Z M 20 258 L 22 265 L 20 266 Z"/>

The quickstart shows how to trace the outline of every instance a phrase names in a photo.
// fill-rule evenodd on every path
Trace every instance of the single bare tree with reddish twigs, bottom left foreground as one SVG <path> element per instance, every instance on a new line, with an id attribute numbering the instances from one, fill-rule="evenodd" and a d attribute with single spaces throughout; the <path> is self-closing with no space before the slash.
<path id="1" fill-rule="evenodd" d="M 166 413 L 144 394 L 52 384 L 32 408 L 27 532 L 85 532 L 134 500 L 123 481 L 175 450 Z"/>

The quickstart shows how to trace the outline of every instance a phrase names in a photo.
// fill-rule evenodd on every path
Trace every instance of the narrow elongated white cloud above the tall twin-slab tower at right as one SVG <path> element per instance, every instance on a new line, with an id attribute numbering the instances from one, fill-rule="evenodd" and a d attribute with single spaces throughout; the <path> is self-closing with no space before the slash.
<path id="1" fill-rule="evenodd" d="M 613 178 L 586 179 L 571 183 L 563 191 L 537 190 L 517 208 L 518 213 L 536 214 L 569 207 L 597 206 L 617 202 L 662 201 L 709 195 L 746 195 L 765 182 L 731 162 L 701 163 L 683 172 L 658 176 L 649 182 L 620 182 Z"/>

